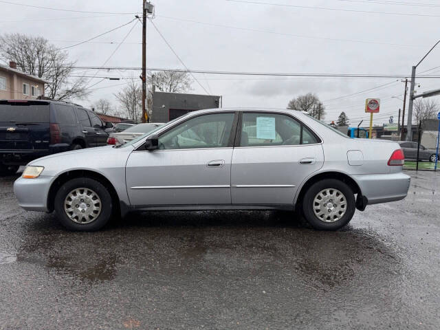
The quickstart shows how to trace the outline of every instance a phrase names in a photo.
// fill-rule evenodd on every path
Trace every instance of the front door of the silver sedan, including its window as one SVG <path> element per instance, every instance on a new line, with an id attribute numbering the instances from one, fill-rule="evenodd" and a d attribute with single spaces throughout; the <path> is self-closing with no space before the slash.
<path id="1" fill-rule="evenodd" d="M 190 116 L 159 134 L 159 150 L 137 148 L 126 163 L 132 205 L 228 204 L 234 112 Z"/>

